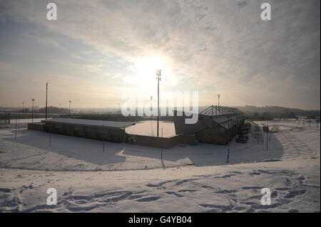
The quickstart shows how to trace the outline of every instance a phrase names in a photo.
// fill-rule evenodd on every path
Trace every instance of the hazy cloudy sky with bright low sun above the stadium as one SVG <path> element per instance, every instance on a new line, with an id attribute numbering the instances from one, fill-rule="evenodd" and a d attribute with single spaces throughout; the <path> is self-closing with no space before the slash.
<path id="1" fill-rule="evenodd" d="M 320 110 L 319 0 L 0 4 L 0 106 L 116 107 L 198 91 L 199 105 Z M 271 20 L 260 17 L 271 5 Z M 126 96 L 125 95 L 125 96 Z M 161 96 L 162 97 L 162 96 Z"/>

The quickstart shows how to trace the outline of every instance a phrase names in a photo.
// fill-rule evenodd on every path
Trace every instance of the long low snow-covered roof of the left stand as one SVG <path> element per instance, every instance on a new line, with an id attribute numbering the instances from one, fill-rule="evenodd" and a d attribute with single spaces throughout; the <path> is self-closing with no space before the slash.
<path id="1" fill-rule="evenodd" d="M 84 119 L 62 118 L 62 117 L 57 117 L 50 120 L 42 120 L 41 122 L 51 122 L 51 123 L 58 123 L 58 124 L 64 124 L 64 125 L 108 127 L 113 129 L 125 128 L 131 125 L 135 125 L 135 122 L 112 122 L 107 120 L 84 120 Z"/>

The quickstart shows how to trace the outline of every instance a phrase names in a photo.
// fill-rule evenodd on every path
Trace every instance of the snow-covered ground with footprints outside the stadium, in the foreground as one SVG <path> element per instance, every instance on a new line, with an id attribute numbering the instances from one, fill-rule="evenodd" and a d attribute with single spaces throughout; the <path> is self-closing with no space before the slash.
<path id="1" fill-rule="evenodd" d="M 0 211 L 320 212 L 320 129 L 269 122 L 267 148 L 256 123 L 248 143 L 230 143 L 229 164 L 223 145 L 162 150 L 0 130 Z M 263 188 L 271 205 L 260 203 Z"/>

